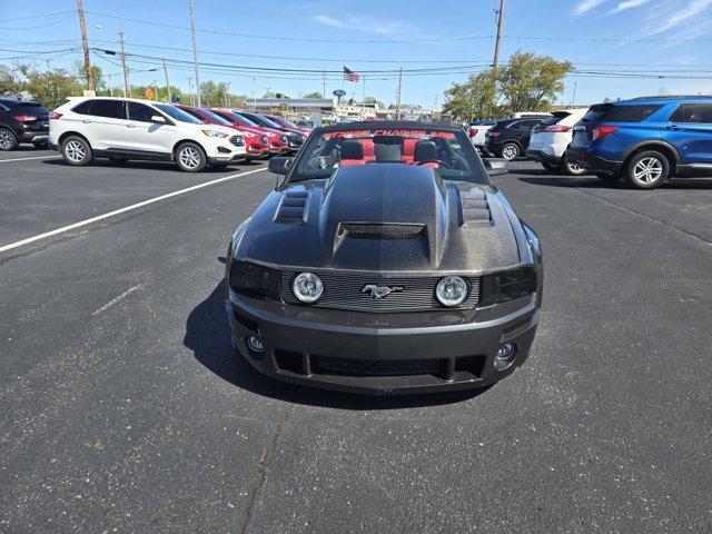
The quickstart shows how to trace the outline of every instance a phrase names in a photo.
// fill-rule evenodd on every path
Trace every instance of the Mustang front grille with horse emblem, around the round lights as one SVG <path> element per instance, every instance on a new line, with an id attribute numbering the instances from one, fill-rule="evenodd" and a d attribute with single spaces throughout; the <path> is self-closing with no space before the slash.
<path id="1" fill-rule="evenodd" d="M 315 305 L 322 308 L 358 312 L 428 312 L 434 309 L 472 309 L 479 300 L 479 278 L 465 277 L 469 295 L 459 306 L 447 308 L 435 297 L 435 286 L 442 279 L 432 277 L 382 277 L 378 275 L 314 270 L 324 283 L 324 296 Z M 281 273 L 281 299 L 287 304 L 301 304 L 291 293 L 291 279 L 298 271 Z M 376 291 L 364 291 L 366 286 L 389 288 L 382 298 Z M 383 295 L 384 291 L 377 291 Z"/>

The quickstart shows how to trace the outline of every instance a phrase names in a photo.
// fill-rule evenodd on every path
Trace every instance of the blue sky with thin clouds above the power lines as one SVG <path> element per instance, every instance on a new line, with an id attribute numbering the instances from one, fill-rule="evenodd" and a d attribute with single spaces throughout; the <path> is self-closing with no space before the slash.
<path id="1" fill-rule="evenodd" d="M 250 95 L 255 90 L 260 96 L 270 89 L 291 97 L 322 90 L 322 77 L 310 72 L 254 75 L 221 66 L 320 71 L 339 70 L 345 65 L 356 72 L 398 67 L 476 69 L 492 61 L 493 9 L 498 4 L 497 0 L 194 1 L 196 23 L 202 30 L 197 34 L 199 60 L 216 63 L 204 67 L 202 80 L 230 82 L 233 92 Z M 79 44 L 77 16 L 70 13 L 76 9 L 75 0 L 24 3 L 22 10 L 12 9 L 16 6 L 17 0 L 0 0 L 0 63 L 33 61 L 44 66 L 50 57 L 52 67 L 69 67 L 81 58 L 80 52 L 66 50 Z M 189 26 L 187 0 L 85 0 L 85 7 L 93 47 L 117 49 L 117 31 L 122 26 L 128 52 L 191 59 L 190 33 L 181 29 Z M 47 13 L 58 14 L 10 20 Z M 709 93 L 712 79 L 703 78 L 712 78 L 711 44 L 712 0 L 508 0 L 502 57 L 506 60 L 521 49 L 568 59 L 581 70 L 676 71 L 674 76 L 698 77 L 567 78 L 560 100 L 572 100 L 576 82 L 576 103 L 592 103 L 605 97 L 662 91 Z M 6 59 L 46 51 L 52 53 Z M 108 61 L 116 58 L 99 56 L 93 61 L 105 72 L 120 72 Z M 131 58 L 130 67 L 136 70 L 131 81 L 157 79 L 164 83 L 162 72 L 141 72 L 158 66 L 151 58 Z M 176 65 L 169 66 L 169 75 L 172 85 L 187 89 L 187 77 L 192 72 L 188 66 Z M 343 87 L 349 96 L 360 98 L 360 83 L 343 82 L 338 75 L 329 78 L 328 92 Z M 406 72 L 403 101 L 433 107 L 436 99 L 442 103 L 443 91 L 453 81 L 465 78 L 462 72 Z M 112 79 L 120 83 L 120 76 Z M 388 103 L 395 101 L 395 92 L 393 72 L 366 76 L 367 95 Z"/>

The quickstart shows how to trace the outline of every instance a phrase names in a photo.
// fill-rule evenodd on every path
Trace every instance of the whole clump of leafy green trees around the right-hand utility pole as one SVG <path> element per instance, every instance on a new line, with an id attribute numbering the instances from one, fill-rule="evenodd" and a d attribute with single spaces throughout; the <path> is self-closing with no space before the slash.
<path id="1" fill-rule="evenodd" d="M 488 69 L 471 75 L 464 83 L 453 83 L 445 91 L 443 111 L 468 120 L 546 111 L 573 68 L 570 61 L 518 51 L 496 71 Z"/>

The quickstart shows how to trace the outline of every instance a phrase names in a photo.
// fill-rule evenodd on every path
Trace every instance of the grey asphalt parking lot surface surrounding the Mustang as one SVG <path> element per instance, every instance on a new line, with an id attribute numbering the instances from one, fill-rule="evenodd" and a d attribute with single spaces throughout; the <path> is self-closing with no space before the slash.
<path id="1" fill-rule="evenodd" d="M 527 364 L 479 394 L 364 398 L 234 356 L 219 257 L 264 164 L 53 156 L 1 155 L 0 247 L 234 178 L 0 251 L 0 532 L 712 530 L 712 179 L 515 164 L 496 184 L 546 261 Z"/>

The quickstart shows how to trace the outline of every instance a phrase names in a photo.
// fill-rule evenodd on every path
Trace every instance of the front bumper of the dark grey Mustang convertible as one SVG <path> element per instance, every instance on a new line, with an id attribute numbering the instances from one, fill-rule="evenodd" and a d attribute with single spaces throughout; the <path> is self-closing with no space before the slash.
<path id="1" fill-rule="evenodd" d="M 536 295 L 498 307 L 505 307 L 504 315 L 482 308 L 469 310 L 467 318 L 437 312 L 396 319 L 392 314 L 266 305 L 231 290 L 226 301 L 233 340 L 258 372 L 294 384 L 373 395 L 481 388 L 510 375 L 528 356 L 538 324 Z M 250 335 L 261 339 L 263 353 L 247 347 Z M 502 343 L 515 344 L 517 352 L 512 366 L 498 372 L 494 356 Z"/>

